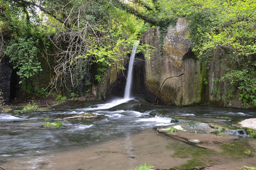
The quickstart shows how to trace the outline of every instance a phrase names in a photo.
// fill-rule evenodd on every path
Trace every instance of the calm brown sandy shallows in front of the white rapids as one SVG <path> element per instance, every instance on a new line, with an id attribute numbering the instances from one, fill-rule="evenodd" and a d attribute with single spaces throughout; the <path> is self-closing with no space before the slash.
<path id="1" fill-rule="evenodd" d="M 9 170 L 23 169 L 133 169 L 141 164 L 150 164 L 159 169 L 170 169 L 186 163 L 188 158 L 172 158 L 174 150 L 167 148 L 172 143 L 183 143 L 155 130 L 146 130 L 122 139 L 103 142 L 99 145 L 66 150 L 56 154 L 39 155 L 30 158 L 18 158 L 1 165 Z M 214 158 L 216 159 L 216 158 Z M 220 158 L 221 159 L 221 158 Z M 209 164 L 205 169 L 238 169 L 243 165 L 256 167 L 254 158 L 236 160 L 216 160 L 217 165 Z M 252 164 L 255 162 L 255 164 Z"/>

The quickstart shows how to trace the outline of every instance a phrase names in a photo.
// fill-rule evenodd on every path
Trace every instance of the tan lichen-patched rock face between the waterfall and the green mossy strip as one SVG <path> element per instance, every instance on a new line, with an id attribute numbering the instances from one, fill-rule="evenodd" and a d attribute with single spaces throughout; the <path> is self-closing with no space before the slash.
<path id="1" fill-rule="evenodd" d="M 155 95 L 156 103 L 192 105 L 201 102 L 201 66 L 191 52 L 187 26 L 184 19 L 179 19 L 176 27 L 170 26 L 162 49 L 159 49 L 158 28 L 144 33 L 143 41 L 157 49 L 151 59 L 145 59 L 144 73 L 146 88 Z"/>

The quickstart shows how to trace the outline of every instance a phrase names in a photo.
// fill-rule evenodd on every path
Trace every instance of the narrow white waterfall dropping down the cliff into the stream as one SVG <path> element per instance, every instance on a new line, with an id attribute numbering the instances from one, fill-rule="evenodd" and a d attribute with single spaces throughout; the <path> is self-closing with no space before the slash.
<path id="1" fill-rule="evenodd" d="M 136 53 L 138 44 L 139 44 L 139 41 L 135 41 L 133 44 L 133 50 L 131 51 L 127 80 L 126 80 L 126 84 L 125 84 L 125 96 L 123 97 L 124 99 L 130 99 L 131 83 L 133 82 L 133 62 L 134 62 L 135 53 Z"/>

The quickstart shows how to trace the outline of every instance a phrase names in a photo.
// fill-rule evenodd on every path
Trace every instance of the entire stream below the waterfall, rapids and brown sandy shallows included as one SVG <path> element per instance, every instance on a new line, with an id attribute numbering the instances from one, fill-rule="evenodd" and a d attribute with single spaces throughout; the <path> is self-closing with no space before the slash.
<path id="1" fill-rule="evenodd" d="M 105 116 L 93 121 L 63 120 L 65 117 L 86 112 Z M 217 118 L 225 116 L 232 118 L 232 121 Z M 54 118 L 54 121 L 61 122 L 64 127 L 42 128 L 46 124 L 46 121 L 39 120 L 42 117 Z M 195 158 L 193 155 L 183 156 L 184 158 L 172 156 L 178 146 L 188 147 L 189 150 L 195 146 L 158 134 L 156 127 L 172 125 L 172 118 L 178 118 L 182 122 L 200 120 L 231 125 L 255 117 L 256 112 L 242 109 L 167 107 L 151 105 L 139 98 L 116 99 L 108 104 L 85 103 L 82 108 L 51 108 L 44 112 L 19 114 L 0 113 L 0 167 L 10 170 L 131 169 L 147 163 L 155 168 L 170 169 Z M 213 164 L 234 165 L 240 159 L 240 166 L 256 167 L 255 139 L 241 135 L 236 130 L 228 136 L 233 141 L 249 143 L 250 148 L 244 148 L 243 152 L 250 151 L 250 156 L 245 159 L 239 155 L 234 158 L 220 154 L 224 158 L 220 155 L 213 156 Z M 220 143 L 213 143 L 213 150 Z M 214 152 L 221 151 L 215 149 Z"/>

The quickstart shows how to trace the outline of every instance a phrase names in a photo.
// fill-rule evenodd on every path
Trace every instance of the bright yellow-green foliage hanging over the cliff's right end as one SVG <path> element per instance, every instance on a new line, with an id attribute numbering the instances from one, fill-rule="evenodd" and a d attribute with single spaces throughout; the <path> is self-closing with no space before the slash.
<path id="1" fill-rule="evenodd" d="M 193 50 L 209 65 L 222 64 L 226 74 L 220 81 L 233 87 L 229 99 L 238 90 L 243 107 L 256 107 L 255 1 L 194 2 L 196 9 L 186 16 Z"/>

